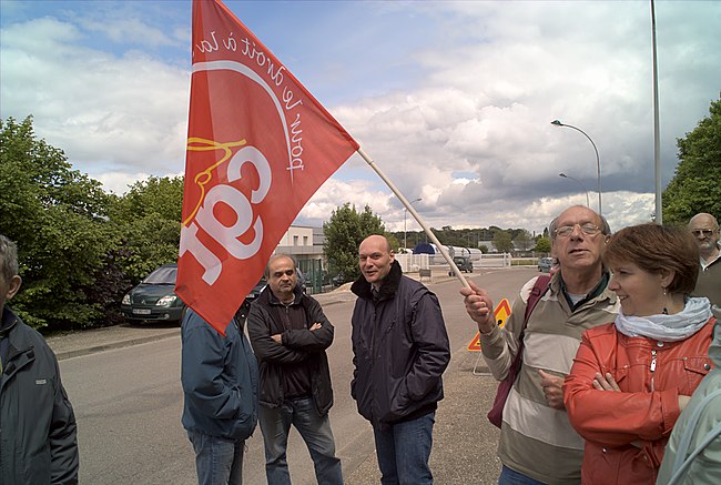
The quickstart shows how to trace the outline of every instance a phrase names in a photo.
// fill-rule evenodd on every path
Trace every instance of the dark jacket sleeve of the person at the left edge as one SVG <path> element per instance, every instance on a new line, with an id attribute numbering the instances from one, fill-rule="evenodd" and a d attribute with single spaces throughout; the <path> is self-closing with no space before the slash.
<path id="1" fill-rule="evenodd" d="M 75 414 L 60 378 L 60 367 L 54 354 L 50 358 L 55 366 L 57 387 L 50 422 L 50 483 L 77 484 L 80 457 L 78 454 L 78 428 Z"/>

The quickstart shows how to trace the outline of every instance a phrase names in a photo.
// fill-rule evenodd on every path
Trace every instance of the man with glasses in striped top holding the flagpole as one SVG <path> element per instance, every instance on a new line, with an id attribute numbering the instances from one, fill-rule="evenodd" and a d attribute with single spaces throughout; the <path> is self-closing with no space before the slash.
<path id="1" fill-rule="evenodd" d="M 494 317 L 494 302 L 473 282 L 461 289 L 466 311 L 478 324 L 483 356 L 497 380 L 504 380 L 524 334 L 522 365 L 504 407 L 498 456 L 499 484 L 578 484 L 583 438 L 571 427 L 563 407 L 563 377 L 570 372 L 581 334 L 612 322 L 617 296 L 607 289 L 609 272 L 601 253 L 608 222 L 583 205 L 571 206 L 549 228 L 559 270 L 525 322 L 526 305 L 538 276 L 520 290 L 504 329 Z M 526 324 L 525 324 L 526 323 Z"/>

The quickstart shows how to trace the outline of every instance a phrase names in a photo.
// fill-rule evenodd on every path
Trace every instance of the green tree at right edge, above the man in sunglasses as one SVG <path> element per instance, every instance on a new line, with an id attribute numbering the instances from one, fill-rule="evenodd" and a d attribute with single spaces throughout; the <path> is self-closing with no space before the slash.
<path id="1" fill-rule="evenodd" d="M 686 223 L 699 212 L 721 219 L 721 99 L 709 117 L 678 139 L 679 164 L 663 191 L 663 222 Z"/>

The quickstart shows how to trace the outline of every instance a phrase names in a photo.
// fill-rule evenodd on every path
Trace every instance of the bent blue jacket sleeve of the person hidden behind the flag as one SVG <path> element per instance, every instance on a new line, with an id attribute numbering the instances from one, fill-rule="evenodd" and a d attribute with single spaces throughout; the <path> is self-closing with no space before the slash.
<path id="1" fill-rule="evenodd" d="M 200 319 L 193 314 L 191 319 Z M 227 341 L 207 324 L 190 327 L 183 340 L 181 383 L 185 398 L 199 412 L 214 418 L 233 418 L 241 410 L 237 387 L 227 385 Z"/>

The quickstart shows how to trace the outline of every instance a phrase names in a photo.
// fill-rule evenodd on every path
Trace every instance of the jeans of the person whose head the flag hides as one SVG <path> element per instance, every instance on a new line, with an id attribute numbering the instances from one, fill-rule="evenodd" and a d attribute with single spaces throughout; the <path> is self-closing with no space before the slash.
<path id="1" fill-rule="evenodd" d="M 195 449 L 199 485 L 242 485 L 245 439 L 229 439 L 189 431 Z"/>

